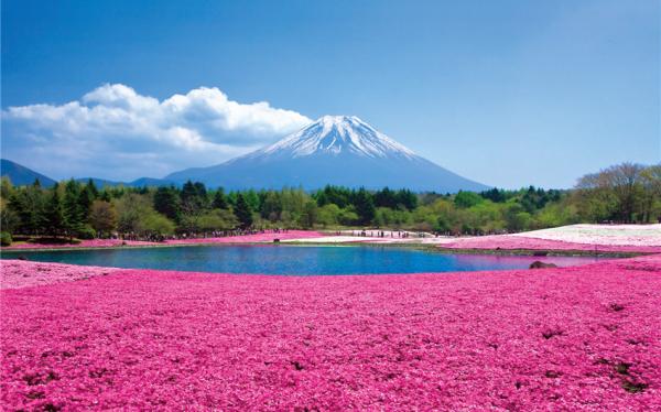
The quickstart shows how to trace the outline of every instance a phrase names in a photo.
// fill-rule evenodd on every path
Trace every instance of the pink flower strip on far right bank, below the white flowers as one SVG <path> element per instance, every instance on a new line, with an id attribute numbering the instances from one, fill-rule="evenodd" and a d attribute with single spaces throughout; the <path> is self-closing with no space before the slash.
<path id="1" fill-rule="evenodd" d="M 598 251 L 598 252 L 630 252 L 661 253 L 660 246 L 619 246 L 576 243 L 562 240 L 538 239 L 523 236 L 491 235 L 456 240 L 438 245 L 443 249 L 503 249 L 503 250 L 564 250 L 564 251 Z"/>

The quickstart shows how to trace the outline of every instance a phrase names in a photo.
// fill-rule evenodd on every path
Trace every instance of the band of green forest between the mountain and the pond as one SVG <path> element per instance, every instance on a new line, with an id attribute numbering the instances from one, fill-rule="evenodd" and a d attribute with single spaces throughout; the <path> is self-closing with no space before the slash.
<path id="1" fill-rule="evenodd" d="M 17 237 L 75 241 L 121 237 L 160 240 L 229 231 L 383 228 L 441 235 L 518 232 L 577 223 L 657 223 L 661 165 L 622 163 L 581 177 L 572 189 L 491 188 L 481 193 L 413 193 L 326 186 L 306 192 L 182 187 L 97 187 L 69 180 L 13 186 L 2 178 L 2 245 Z"/>

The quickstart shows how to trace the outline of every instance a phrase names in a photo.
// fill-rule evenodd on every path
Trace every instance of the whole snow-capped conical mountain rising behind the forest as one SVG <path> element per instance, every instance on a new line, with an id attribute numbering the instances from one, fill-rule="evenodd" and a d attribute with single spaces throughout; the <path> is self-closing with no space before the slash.
<path id="1" fill-rule="evenodd" d="M 267 148 L 215 166 L 175 172 L 165 180 L 228 189 L 312 189 L 327 184 L 438 193 L 488 188 L 419 156 L 355 116 L 324 116 Z"/>

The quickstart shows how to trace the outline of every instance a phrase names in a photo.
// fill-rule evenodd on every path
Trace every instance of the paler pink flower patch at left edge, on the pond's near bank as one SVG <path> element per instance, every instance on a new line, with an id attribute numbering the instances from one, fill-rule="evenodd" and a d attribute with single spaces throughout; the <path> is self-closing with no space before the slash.
<path id="1" fill-rule="evenodd" d="M 117 268 L 0 260 L 0 290 L 85 280 L 118 271 Z"/>

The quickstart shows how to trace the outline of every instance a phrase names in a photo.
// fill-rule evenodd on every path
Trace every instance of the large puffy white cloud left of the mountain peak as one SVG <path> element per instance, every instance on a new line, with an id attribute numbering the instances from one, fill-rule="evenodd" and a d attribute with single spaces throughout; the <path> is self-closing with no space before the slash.
<path id="1" fill-rule="evenodd" d="M 201 87 L 159 101 L 113 84 L 64 105 L 2 110 L 2 156 L 55 178 L 133 180 L 220 163 L 312 120 Z"/>

